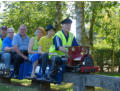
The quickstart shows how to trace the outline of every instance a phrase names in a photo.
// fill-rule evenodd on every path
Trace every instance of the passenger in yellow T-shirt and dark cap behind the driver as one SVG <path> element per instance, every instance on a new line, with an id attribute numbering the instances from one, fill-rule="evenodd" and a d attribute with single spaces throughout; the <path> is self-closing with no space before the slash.
<path id="1" fill-rule="evenodd" d="M 42 37 L 39 41 L 39 53 L 42 54 L 41 55 L 41 60 L 42 60 L 42 72 L 43 72 L 43 77 L 45 77 L 45 70 L 47 67 L 47 63 L 48 63 L 48 52 L 49 52 L 49 48 L 52 45 L 52 38 L 53 35 L 55 34 L 54 32 L 54 27 L 52 25 L 48 25 L 46 28 L 47 31 L 47 35 Z"/>

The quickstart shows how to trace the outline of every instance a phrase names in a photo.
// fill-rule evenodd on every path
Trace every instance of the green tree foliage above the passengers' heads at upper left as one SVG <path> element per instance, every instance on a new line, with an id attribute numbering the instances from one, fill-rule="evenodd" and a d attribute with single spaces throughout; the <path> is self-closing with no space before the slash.
<path id="1" fill-rule="evenodd" d="M 37 27 L 46 27 L 48 24 L 56 24 L 56 3 L 44 1 L 21 1 L 21 2 L 4 2 L 5 13 L 3 14 L 2 23 L 8 27 L 18 29 L 20 24 L 25 24 L 28 28 L 28 34 L 33 34 Z M 62 2 L 64 3 L 64 2 Z M 61 9 L 65 5 L 61 6 Z M 66 9 L 64 9 L 66 10 Z"/>

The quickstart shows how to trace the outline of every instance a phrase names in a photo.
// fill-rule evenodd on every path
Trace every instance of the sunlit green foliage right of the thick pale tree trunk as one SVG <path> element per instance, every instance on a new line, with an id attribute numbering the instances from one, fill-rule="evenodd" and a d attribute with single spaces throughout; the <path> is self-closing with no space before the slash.
<path id="1" fill-rule="evenodd" d="M 90 2 L 87 3 L 86 22 L 90 23 L 89 40 L 93 46 L 111 48 L 112 71 L 115 64 L 116 51 L 120 48 L 120 17 L 119 2 Z M 90 15 L 88 15 L 88 14 Z M 90 18 L 90 19 L 89 19 Z M 93 33 L 96 33 L 93 36 Z M 105 52 L 105 51 L 104 51 Z M 103 55 L 103 54 L 102 54 Z M 105 59 L 104 59 L 105 60 Z"/>

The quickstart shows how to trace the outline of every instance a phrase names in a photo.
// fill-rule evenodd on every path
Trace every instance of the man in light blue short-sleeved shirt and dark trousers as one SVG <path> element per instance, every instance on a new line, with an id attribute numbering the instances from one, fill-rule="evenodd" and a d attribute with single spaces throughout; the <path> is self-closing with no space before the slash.
<path id="1" fill-rule="evenodd" d="M 21 25 L 19 28 L 19 33 L 13 37 L 12 45 L 15 50 L 14 54 L 15 75 L 19 74 L 20 64 L 22 64 L 24 60 L 28 60 L 29 37 L 27 36 L 26 32 L 27 27 L 25 25 Z"/>

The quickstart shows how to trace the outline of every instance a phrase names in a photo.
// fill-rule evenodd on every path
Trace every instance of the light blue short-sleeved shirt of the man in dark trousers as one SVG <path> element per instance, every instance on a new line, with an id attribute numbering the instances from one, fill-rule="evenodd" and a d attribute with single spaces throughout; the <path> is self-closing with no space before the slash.
<path id="1" fill-rule="evenodd" d="M 13 37 L 12 45 L 17 46 L 19 50 L 28 50 L 29 37 L 26 35 L 23 39 L 18 33 Z"/>

